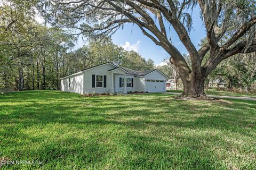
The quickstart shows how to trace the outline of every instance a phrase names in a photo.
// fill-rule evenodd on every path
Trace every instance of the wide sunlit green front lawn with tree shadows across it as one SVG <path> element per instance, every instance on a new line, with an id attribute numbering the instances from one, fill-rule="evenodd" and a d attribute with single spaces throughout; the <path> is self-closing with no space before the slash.
<path id="1" fill-rule="evenodd" d="M 169 94 L 0 96 L 2 169 L 256 169 L 256 102 Z"/>

